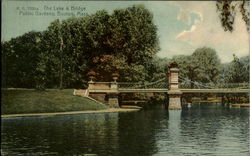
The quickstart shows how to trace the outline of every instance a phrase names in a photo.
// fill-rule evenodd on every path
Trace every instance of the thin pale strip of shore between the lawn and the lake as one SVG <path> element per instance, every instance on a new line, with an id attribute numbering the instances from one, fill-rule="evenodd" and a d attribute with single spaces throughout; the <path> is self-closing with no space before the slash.
<path id="1" fill-rule="evenodd" d="M 109 108 L 109 109 L 104 109 L 104 110 L 86 110 L 86 111 L 69 111 L 69 112 L 53 112 L 53 113 L 6 114 L 6 115 L 1 115 L 1 118 L 29 117 L 29 116 L 53 116 L 53 115 L 68 115 L 68 114 L 99 114 L 99 113 L 135 112 L 139 110 L 140 109 L 133 109 L 133 108 Z"/>

